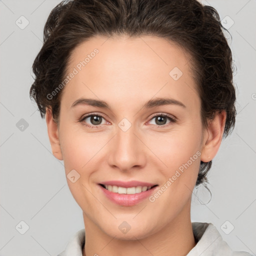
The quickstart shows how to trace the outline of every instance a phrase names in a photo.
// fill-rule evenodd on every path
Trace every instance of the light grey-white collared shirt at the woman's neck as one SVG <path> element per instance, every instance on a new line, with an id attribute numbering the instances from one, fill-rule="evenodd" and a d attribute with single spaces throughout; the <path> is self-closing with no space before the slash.
<path id="1" fill-rule="evenodd" d="M 186 256 L 252 256 L 245 251 L 232 251 L 211 223 L 192 222 L 196 245 Z M 85 230 L 77 231 L 69 240 L 66 248 L 57 256 L 82 256 Z"/>

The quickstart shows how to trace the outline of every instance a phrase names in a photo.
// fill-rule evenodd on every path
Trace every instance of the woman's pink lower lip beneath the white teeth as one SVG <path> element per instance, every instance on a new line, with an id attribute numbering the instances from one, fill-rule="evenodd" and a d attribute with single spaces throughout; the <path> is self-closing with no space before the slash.
<path id="1" fill-rule="evenodd" d="M 145 198 L 149 197 L 149 195 L 154 191 L 154 189 L 157 186 L 154 186 L 153 188 L 150 188 L 149 190 L 140 192 L 140 193 L 135 193 L 135 194 L 118 194 L 111 192 L 107 190 L 106 188 L 102 187 L 99 185 L 103 193 L 114 203 L 123 205 L 123 206 L 132 206 L 135 204 L 138 204 Z"/>

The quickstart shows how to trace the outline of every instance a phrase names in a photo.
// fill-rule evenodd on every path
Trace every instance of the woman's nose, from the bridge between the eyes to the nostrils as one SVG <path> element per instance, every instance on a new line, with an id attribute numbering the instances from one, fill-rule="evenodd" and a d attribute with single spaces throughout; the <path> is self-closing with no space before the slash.
<path id="1" fill-rule="evenodd" d="M 125 119 L 125 118 L 124 118 Z M 113 147 L 109 155 L 109 164 L 121 170 L 144 164 L 142 143 L 137 138 L 135 125 L 122 120 L 118 123 L 116 135 L 113 137 Z"/>

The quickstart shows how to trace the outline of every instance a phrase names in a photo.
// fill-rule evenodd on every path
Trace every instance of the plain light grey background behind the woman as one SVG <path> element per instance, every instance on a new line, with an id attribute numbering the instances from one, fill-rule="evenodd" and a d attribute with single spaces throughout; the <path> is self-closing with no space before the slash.
<path id="1" fill-rule="evenodd" d="M 45 119 L 29 99 L 32 62 L 42 46 L 46 18 L 58 2 L 0 1 L 0 255 L 57 255 L 84 228 L 63 161 L 52 155 Z M 230 26 L 232 41 L 225 34 L 237 67 L 238 114 L 234 131 L 213 159 L 208 176 L 211 200 L 201 204 L 198 198 L 205 202 L 209 194 L 194 189 L 191 220 L 213 223 L 233 250 L 255 254 L 256 1 L 202 3 L 215 7 Z M 21 15 L 29 22 L 23 29 Z M 28 225 L 27 231 L 20 221 Z"/>

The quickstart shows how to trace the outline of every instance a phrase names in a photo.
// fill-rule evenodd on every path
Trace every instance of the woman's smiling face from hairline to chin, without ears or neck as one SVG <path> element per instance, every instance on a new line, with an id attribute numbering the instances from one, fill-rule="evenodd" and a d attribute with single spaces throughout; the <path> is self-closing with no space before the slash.
<path id="1" fill-rule="evenodd" d="M 73 50 L 56 157 L 88 225 L 133 239 L 189 216 L 206 134 L 189 65 L 153 36 L 96 36 Z"/>

